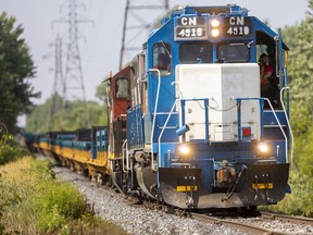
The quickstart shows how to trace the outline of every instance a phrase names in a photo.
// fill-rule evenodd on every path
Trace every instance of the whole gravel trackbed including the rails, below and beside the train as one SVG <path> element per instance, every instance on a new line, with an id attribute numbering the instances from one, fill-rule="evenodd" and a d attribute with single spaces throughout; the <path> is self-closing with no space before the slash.
<path id="1" fill-rule="evenodd" d="M 120 225 L 132 234 L 313 234 L 310 225 L 300 222 L 286 224 L 279 220 L 266 221 L 259 212 L 255 212 L 256 215 L 237 213 L 236 217 L 227 217 L 227 213 L 215 214 L 209 220 L 203 213 L 190 213 L 155 202 L 138 201 L 138 198 L 91 182 L 90 178 L 66 168 L 58 166 L 54 172 L 58 178 L 71 182 L 86 196 L 97 217 Z"/>

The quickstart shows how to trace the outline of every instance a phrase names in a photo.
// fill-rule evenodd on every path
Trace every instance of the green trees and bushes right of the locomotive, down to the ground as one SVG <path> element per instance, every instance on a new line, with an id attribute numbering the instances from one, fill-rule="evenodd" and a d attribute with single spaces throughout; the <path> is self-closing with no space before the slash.
<path id="1" fill-rule="evenodd" d="M 296 164 L 289 178 L 292 193 L 277 206 L 265 209 L 313 217 L 313 0 L 309 0 L 309 8 L 304 21 L 284 29 L 285 42 L 290 48 L 288 78 Z"/>

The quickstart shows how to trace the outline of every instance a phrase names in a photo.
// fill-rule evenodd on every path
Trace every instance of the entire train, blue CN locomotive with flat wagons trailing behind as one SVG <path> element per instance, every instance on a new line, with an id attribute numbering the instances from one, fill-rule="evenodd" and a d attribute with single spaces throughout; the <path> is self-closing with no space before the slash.
<path id="1" fill-rule="evenodd" d="M 173 10 L 142 52 L 103 82 L 108 126 L 47 133 L 36 148 L 180 209 L 276 203 L 290 191 L 287 51 L 280 32 L 245 8 Z"/>

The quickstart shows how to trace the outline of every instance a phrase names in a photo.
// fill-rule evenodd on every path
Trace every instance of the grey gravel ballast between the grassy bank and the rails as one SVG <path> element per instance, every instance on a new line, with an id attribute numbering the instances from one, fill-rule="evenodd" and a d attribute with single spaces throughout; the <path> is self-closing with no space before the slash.
<path id="1" fill-rule="evenodd" d="M 89 178 L 78 175 L 65 168 L 55 168 L 57 178 L 72 182 L 93 205 L 96 215 L 120 225 L 129 234 L 246 234 L 229 227 L 198 222 L 160 211 L 133 207 L 125 202 L 122 194 L 116 194 L 91 183 Z"/>

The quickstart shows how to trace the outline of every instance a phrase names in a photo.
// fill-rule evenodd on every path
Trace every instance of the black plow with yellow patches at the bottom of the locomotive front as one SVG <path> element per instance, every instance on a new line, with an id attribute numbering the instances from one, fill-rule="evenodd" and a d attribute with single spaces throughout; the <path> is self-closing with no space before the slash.
<path id="1" fill-rule="evenodd" d="M 233 172 L 231 177 L 229 174 L 223 177 L 225 172 Z M 158 193 L 168 205 L 204 209 L 276 203 L 288 189 L 289 164 L 247 164 L 240 176 L 230 168 L 224 168 L 218 173 L 222 175 L 218 177 L 221 188 L 215 188 L 215 191 L 205 189 L 208 178 L 203 178 L 202 173 L 203 169 L 159 169 Z M 222 188 L 226 188 L 226 193 L 221 193 Z"/>

